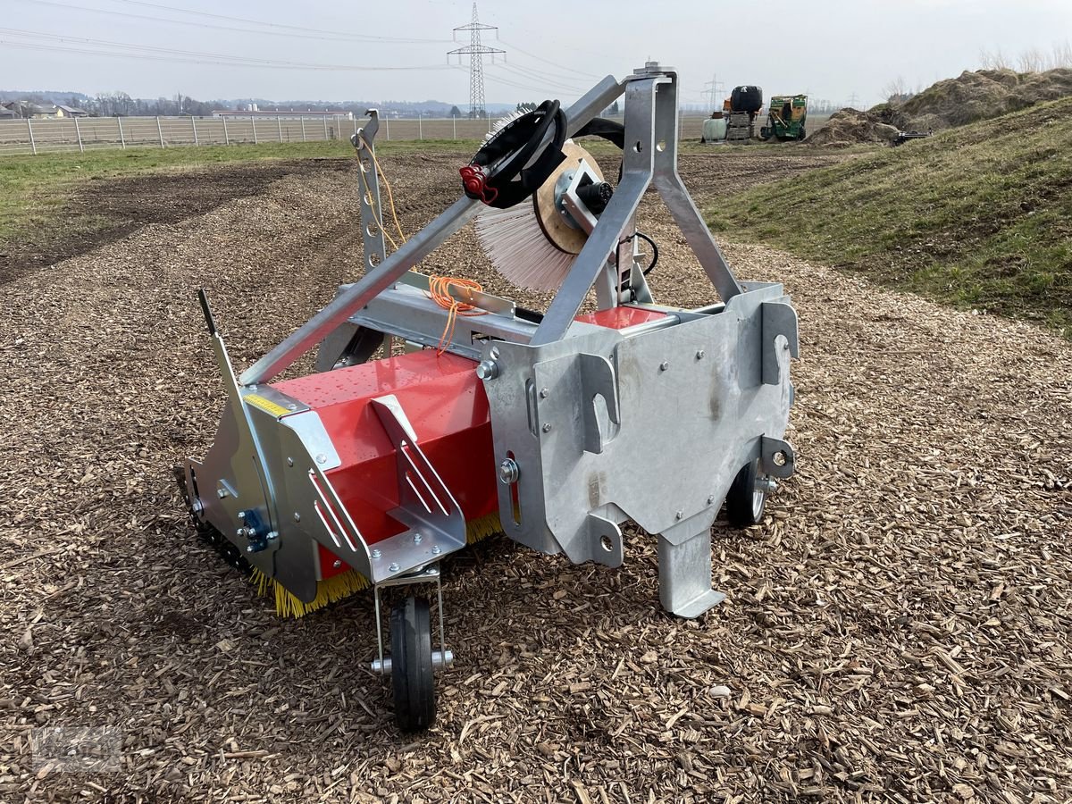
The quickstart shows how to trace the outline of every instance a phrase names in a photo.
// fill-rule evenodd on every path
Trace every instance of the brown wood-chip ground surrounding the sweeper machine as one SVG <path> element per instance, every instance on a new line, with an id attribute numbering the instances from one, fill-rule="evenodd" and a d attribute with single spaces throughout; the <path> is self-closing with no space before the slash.
<path id="1" fill-rule="evenodd" d="M 385 160 L 410 233 L 462 155 Z M 681 169 L 706 203 L 827 159 Z M 727 247 L 739 273 L 783 280 L 801 315 L 799 463 L 764 525 L 716 525 L 727 601 L 665 614 L 643 534 L 621 570 L 485 542 L 446 567 L 436 727 L 398 735 L 371 597 L 278 620 L 170 476 L 223 402 L 194 288 L 236 363 L 274 345 L 353 278 L 340 167 L 190 175 L 173 211 L 151 180 L 96 188 L 122 226 L 0 267 L 0 800 L 1072 799 L 1067 343 L 749 245 Z M 657 297 L 711 300 L 661 208 L 642 225 Z M 422 267 L 508 291 L 468 229 Z M 121 770 L 36 766 L 57 726 L 114 729 Z"/>

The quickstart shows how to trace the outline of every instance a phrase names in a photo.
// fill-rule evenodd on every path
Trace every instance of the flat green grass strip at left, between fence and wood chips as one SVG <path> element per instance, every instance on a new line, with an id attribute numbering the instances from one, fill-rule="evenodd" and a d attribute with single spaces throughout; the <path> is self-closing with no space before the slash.
<path id="1" fill-rule="evenodd" d="M 381 153 L 476 149 L 465 142 L 382 142 Z M 0 249 L 28 229 L 63 223 L 71 197 L 93 179 L 114 179 L 189 170 L 236 162 L 315 159 L 353 155 L 349 143 L 283 143 L 175 148 L 110 148 L 86 153 L 43 153 L 0 157 Z M 78 225 L 92 227 L 92 215 L 80 214 Z"/>

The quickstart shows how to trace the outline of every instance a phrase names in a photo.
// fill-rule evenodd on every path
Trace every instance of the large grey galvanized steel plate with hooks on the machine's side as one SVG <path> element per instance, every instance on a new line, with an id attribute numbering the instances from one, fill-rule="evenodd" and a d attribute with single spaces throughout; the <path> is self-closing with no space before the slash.
<path id="1" fill-rule="evenodd" d="M 780 438 L 788 423 L 787 338 L 775 352 L 777 383 L 763 382 L 765 340 L 780 332 L 764 336 L 762 304 L 780 298 L 766 286 L 718 314 L 632 338 L 607 330 L 540 347 L 498 344 L 498 376 L 485 385 L 496 460 L 512 455 L 519 467 L 521 523 L 507 533 L 600 561 L 591 517 L 604 506 L 650 533 L 717 511 L 761 436 Z M 509 487 L 500 501 L 507 523 Z"/>

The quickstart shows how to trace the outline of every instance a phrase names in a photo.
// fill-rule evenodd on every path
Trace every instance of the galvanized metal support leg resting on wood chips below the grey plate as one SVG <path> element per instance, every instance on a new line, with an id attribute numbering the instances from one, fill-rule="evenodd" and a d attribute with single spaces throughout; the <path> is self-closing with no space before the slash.
<path id="1" fill-rule="evenodd" d="M 711 589 L 711 522 L 706 521 L 695 536 L 679 541 L 679 535 L 667 532 L 659 536 L 659 602 L 672 614 L 695 620 L 725 600 L 726 595 Z"/>

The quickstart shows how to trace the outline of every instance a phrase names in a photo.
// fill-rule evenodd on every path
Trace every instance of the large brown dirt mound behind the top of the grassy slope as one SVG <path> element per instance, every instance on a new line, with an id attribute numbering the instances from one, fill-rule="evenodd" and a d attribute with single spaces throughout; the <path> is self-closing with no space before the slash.
<path id="1" fill-rule="evenodd" d="M 909 99 L 899 110 L 919 130 L 948 129 L 1072 95 L 1072 70 L 1044 73 L 980 70 L 947 78 Z"/>

